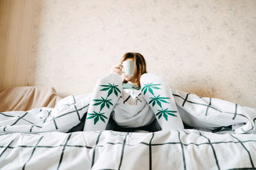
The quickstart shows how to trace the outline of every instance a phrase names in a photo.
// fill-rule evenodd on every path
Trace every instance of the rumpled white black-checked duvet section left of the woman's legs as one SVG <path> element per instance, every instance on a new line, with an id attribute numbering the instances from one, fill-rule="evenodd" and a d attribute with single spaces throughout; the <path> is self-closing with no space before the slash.
<path id="1" fill-rule="evenodd" d="M 0 132 L 67 132 L 87 113 L 90 97 L 90 94 L 68 96 L 61 99 L 55 108 L 0 113 Z"/>

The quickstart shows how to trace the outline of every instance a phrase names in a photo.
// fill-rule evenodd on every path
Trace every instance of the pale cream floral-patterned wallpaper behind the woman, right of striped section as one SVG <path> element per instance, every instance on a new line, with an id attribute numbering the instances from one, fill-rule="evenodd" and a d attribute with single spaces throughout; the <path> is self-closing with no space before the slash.
<path id="1" fill-rule="evenodd" d="M 172 89 L 256 108 L 256 1 L 36 1 L 29 85 L 92 92 L 126 52 Z"/>

